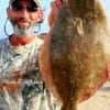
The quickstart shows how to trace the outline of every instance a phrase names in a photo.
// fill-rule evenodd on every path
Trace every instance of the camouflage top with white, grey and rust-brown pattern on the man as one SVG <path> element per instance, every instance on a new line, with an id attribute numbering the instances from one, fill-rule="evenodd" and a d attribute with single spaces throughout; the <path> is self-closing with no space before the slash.
<path id="1" fill-rule="evenodd" d="M 61 105 L 42 80 L 38 53 L 43 40 L 12 46 L 0 41 L 0 110 L 58 110 Z"/>

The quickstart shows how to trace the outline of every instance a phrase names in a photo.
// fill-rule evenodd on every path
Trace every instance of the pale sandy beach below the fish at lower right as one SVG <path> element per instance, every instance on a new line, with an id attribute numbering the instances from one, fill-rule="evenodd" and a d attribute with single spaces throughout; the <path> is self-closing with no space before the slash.
<path id="1" fill-rule="evenodd" d="M 80 103 L 78 110 L 110 110 L 110 80 L 90 99 Z"/>

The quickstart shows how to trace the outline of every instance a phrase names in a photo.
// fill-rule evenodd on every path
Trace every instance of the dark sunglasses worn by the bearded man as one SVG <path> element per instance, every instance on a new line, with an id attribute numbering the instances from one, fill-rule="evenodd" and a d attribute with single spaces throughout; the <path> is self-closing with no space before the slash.
<path id="1" fill-rule="evenodd" d="M 36 4 L 23 6 L 21 3 L 14 3 L 11 8 L 13 11 L 22 11 L 23 9 L 26 9 L 29 12 L 36 12 L 38 10 Z"/>

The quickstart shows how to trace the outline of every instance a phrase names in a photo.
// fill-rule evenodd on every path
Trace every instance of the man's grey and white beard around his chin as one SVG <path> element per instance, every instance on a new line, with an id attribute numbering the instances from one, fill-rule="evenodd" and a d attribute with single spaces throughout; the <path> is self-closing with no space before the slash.
<path id="1" fill-rule="evenodd" d="M 16 21 L 14 22 L 11 21 L 11 23 L 13 25 L 14 35 L 18 35 L 20 37 L 26 37 L 34 34 L 35 26 L 36 26 L 35 22 L 30 22 L 28 28 L 18 25 Z"/>

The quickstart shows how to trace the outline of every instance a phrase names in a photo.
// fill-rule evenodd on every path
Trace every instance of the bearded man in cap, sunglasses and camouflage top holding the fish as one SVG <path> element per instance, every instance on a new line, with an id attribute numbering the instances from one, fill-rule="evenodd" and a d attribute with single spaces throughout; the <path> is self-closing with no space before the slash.
<path id="1" fill-rule="evenodd" d="M 0 110 L 58 110 L 38 70 L 43 41 L 34 29 L 43 20 L 40 0 L 10 0 L 7 13 L 13 34 L 0 41 Z"/>

